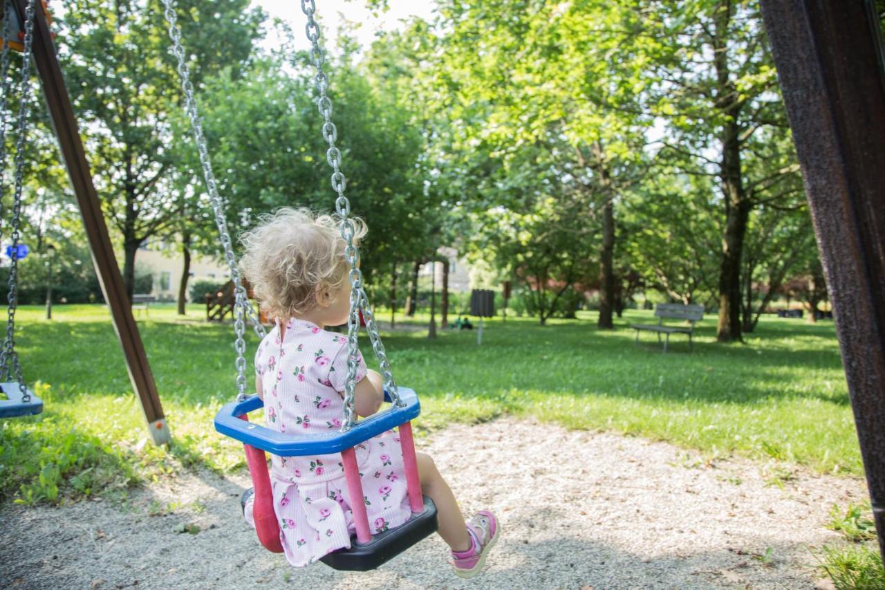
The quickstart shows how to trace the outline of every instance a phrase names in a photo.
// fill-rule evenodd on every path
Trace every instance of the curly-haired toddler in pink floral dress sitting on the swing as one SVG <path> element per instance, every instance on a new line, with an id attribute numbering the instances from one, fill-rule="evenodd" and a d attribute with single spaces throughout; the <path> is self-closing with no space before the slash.
<path id="1" fill-rule="evenodd" d="M 366 235 L 353 219 L 354 241 Z M 305 209 L 282 208 L 242 236 L 241 268 L 261 308 L 276 323 L 255 355 L 255 386 L 264 400 L 268 428 L 299 434 L 341 428 L 347 380 L 347 338 L 325 330 L 347 322 L 350 281 L 345 242 L 337 221 Z M 384 400 L 382 378 L 358 354 L 354 411 L 373 415 Z M 394 431 L 356 447 L 366 512 L 373 532 L 404 524 L 412 510 L 406 494 L 403 455 Z M 472 578 L 485 563 L 500 527 L 481 510 L 465 523 L 458 501 L 433 460 L 418 453 L 421 491 L 433 499 L 439 534 L 451 549 L 455 572 Z M 341 547 L 354 532 L 350 494 L 341 456 L 272 455 L 273 509 L 281 526 L 283 552 L 303 567 Z M 244 505 L 254 526 L 251 498 Z"/>

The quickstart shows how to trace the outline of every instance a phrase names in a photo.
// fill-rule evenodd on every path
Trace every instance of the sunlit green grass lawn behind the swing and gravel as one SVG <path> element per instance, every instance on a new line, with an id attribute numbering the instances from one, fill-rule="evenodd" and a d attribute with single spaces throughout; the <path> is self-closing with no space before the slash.
<path id="1" fill-rule="evenodd" d="M 241 447 L 219 437 L 212 416 L 235 396 L 229 324 L 209 324 L 200 307 L 181 319 L 173 306 L 136 318 L 173 434 L 171 454 L 145 445 L 147 432 L 123 355 L 102 306 L 19 312 L 25 376 L 45 402 L 42 415 L 0 423 L 0 498 L 58 502 L 144 479 L 173 477 L 181 465 L 230 470 Z M 386 322 L 388 315 L 380 313 Z M 662 354 L 653 334 L 634 345 L 631 311 L 613 331 L 595 314 L 531 318 L 475 330 L 382 333 L 397 383 L 421 396 L 420 429 L 498 415 L 534 415 L 569 428 L 668 440 L 707 457 L 742 454 L 795 462 L 820 472 L 862 466 L 833 325 L 764 318 L 745 345 L 714 342 L 715 318 Z M 427 322 L 427 316 L 415 323 Z M 257 338 L 250 339 L 251 356 Z M 363 343 L 368 358 L 370 348 Z"/>

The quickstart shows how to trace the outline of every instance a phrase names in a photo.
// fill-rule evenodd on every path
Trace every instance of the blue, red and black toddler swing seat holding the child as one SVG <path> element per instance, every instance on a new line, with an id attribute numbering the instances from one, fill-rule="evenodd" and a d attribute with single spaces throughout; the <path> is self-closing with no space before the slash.
<path id="1" fill-rule="evenodd" d="M 353 476 L 356 473 L 355 459 L 353 470 L 350 472 L 347 470 L 347 455 L 352 455 L 353 447 L 397 426 L 400 427 L 404 462 L 406 464 L 412 462 L 414 466 L 411 421 L 420 414 L 418 395 L 413 390 L 405 387 L 399 387 L 397 391 L 399 392 L 400 399 L 404 401 L 402 408 L 394 406 L 387 411 L 371 415 L 354 424 L 350 431 L 346 432 L 335 431 L 310 435 L 284 434 L 261 424 L 251 423 L 246 417 L 249 412 L 264 406 L 258 395 L 252 395 L 242 401 L 231 402 L 221 408 L 215 417 L 215 430 L 246 445 L 247 455 L 250 453 L 250 446 L 282 457 L 341 453 L 345 463 L 345 475 L 350 486 L 354 485 L 354 481 L 358 484 L 358 475 L 356 477 Z M 391 401 L 387 392 L 384 394 L 384 399 L 388 402 Z M 409 455 L 411 455 L 411 459 Z M 267 487 L 268 484 L 262 484 L 266 473 L 257 474 L 255 470 L 256 468 L 266 469 L 266 462 L 250 461 L 249 464 L 252 482 L 256 486 L 256 507 L 258 507 L 259 489 Z M 408 470 L 406 472 L 406 479 L 407 481 L 410 479 Z M 397 526 L 395 529 L 369 536 L 367 521 L 363 525 L 362 532 L 360 531 L 360 521 L 366 518 L 365 507 L 362 507 L 362 517 L 358 515 L 360 507 L 352 507 L 358 531 L 356 535 L 351 535 L 350 548 L 342 548 L 327 554 L 320 561 L 335 570 L 373 570 L 382 563 L 386 563 L 393 557 L 396 557 L 405 549 L 412 547 L 419 540 L 435 532 L 437 529 L 436 507 L 430 498 L 420 495 L 417 467 L 412 469 L 411 479 L 412 481 L 408 481 L 408 483 L 412 517 L 406 523 Z M 265 490 L 264 493 L 269 493 L 269 489 Z M 361 496 L 362 493 L 359 493 L 359 495 Z M 258 521 L 258 519 L 256 520 Z M 275 518 L 273 518 L 273 523 L 276 523 Z M 262 539 L 264 536 L 273 543 L 273 532 L 263 533 L 259 531 L 258 536 L 267 548 L 278 550 L 270 547 Z"/>

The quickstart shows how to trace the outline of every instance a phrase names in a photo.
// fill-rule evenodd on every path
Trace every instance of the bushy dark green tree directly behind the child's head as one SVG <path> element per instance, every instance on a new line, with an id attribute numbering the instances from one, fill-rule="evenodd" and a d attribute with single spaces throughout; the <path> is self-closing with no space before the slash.
<path id="1" fill-rule="evenodd" d="M 229 76 L 206 82 L 204 128 L 213 167 L 223 171 L 219 192 L 234 234 L 280 206 L 335 209 L 328 145 L 301 58 L 306 54 L 274 54 L 257 60 L 242 82 Z M 351 214 L 369 228 L 361 260 L 372 281 L 376 273 L 387 276 L 391 262 L 408 260 L 433 233 L 428 219 L 435 194 L 420 178 L 421 137 L 408 124 L 410 113 L 346 59 L 330 61 L 336 145 Z M 196 161 L 192 166 L 197 178 L 201 170 Z"/>

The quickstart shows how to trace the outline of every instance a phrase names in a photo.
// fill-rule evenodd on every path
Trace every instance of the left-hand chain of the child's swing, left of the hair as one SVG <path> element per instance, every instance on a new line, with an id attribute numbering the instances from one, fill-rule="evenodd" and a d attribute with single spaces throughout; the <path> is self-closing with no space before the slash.
<path id="1" fill-rule="evenodd" d="M 245 341 L 245 321 L 252 322 L 255 333 L 259 338 L 266 336 L 266 330 L 261 322 L 258 321 L 258 314 L 249 304 L 249 298 L 246 295 L 246 289 L 242 286 L 242 278 L 240 269 L 236 266 L 236 256 L 234 246 L 230 239 L 230 231 L 227 229 L 227 218 L 225 217 L 225 204 L 219 196 L 218 182 L 212 172 L 212 161 L 209 159 L 209 149 L 206 146 L 206 138 L 203 133 L 203 122 L 200 120 L 199 112 L 196 106 L 196 97 L 194 85 L 190 82 L 190 68 L 188 66 L 187 54 L 184 46 L 181 44 L 181 31 L 176 22 L 175 1 L 163 0 L 165 5 L 165 19 L 169 23 L 169 36 L 172 39 L 172 53 L 178 58 L 178 74 L 181 76 L 181 90 L 184 93 L 185 111 L 188 113 L 190 127 L 194 132 L 194 140 L 196 148 L 200 155 L 200 164 L 203 166 L 203 176 L 206 182 L 206 190 L 209 192 L 209 198 L 212 202 L 212 210 L 215 213 L 215 223 L 219 229 L 219 237 L 221 245 L 224 246 L 225 259 L 227 266 L 230 268 L 230 278 L 234 282 L 234 332 L 236 340 L 234 348 L 236 350 L 236 387 L 237 400 L 243 400 L 246 397 L 246 341 Z"/>

